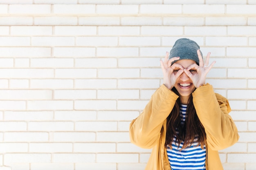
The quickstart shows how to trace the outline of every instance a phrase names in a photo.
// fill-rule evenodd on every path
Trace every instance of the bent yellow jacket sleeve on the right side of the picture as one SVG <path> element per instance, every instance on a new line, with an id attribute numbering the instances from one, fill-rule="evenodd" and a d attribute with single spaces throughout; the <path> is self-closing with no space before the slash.
<path id="1" fill-rule="evenodd" d="M 235 144 L 238 130 L 229 115 L 231 108 L 225 97 L 214 93 L 209 84 L 200 86 L 193 93 L 193 104 L 212 150 L 222 150 Z"/>

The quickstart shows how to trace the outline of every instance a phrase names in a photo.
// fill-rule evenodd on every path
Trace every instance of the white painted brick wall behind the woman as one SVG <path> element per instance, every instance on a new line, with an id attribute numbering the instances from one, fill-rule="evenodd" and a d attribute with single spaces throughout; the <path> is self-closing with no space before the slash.
<path id="1" fill-rule="evenodd" d="M 182 37 L 239 130 L 224 169 L 255 170 L 255 30 L 255 0 L 0 0 L 0 170 L 143 170 L 128 126 Z"/>

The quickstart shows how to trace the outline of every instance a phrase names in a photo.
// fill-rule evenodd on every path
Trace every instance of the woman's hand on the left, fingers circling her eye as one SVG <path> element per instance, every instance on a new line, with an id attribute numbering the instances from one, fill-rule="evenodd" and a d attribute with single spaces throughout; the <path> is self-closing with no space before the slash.
<path id="1" fill-rule="evenodd" d="M 164 62 L 162 59 L 160 60 L 161 68 L 164 74 L 164 85 L 171 90 L 176 83 L 177 78 L 184 72 L 184 68 L 182 65 L 172 62 L 175 60 L 179 60 L 180 57 L 172 57 L 168 60 L 169 53 L 166 52 Z"/>

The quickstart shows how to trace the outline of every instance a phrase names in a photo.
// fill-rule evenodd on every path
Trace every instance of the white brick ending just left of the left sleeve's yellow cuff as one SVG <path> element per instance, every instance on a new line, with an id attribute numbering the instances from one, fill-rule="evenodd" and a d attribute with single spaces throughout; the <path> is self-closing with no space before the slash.
<path id="1" fill-rule="evenodd" d="M 159 88 L 159 79 L 118 79 L 118 88 L 147 89 Z"/>

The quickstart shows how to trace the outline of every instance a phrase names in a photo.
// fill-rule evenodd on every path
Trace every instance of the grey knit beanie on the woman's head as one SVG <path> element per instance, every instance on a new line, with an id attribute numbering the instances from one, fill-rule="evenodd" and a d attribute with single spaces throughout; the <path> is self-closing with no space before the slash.
<path id="1" fill-rule="evenodd" d="M 181 38 L 177 40 L 173 45 L 173 48 L 170 51 L 170 55 L 168 59 L 172 57 L 180 57 L 180 60 L 182 59 L 194 60 L 196 64 L 199 65 L 199 59 L 198 59 L 198 53 L 197 53 L 198 49 L 200 49 L 200 46 L 193 40 L 189 40 L 187 38 Z M 200 53 L 202 55 L 201 50 L 200 50 Z M 172 62 L 172 64 L 174 62 Z"/>

